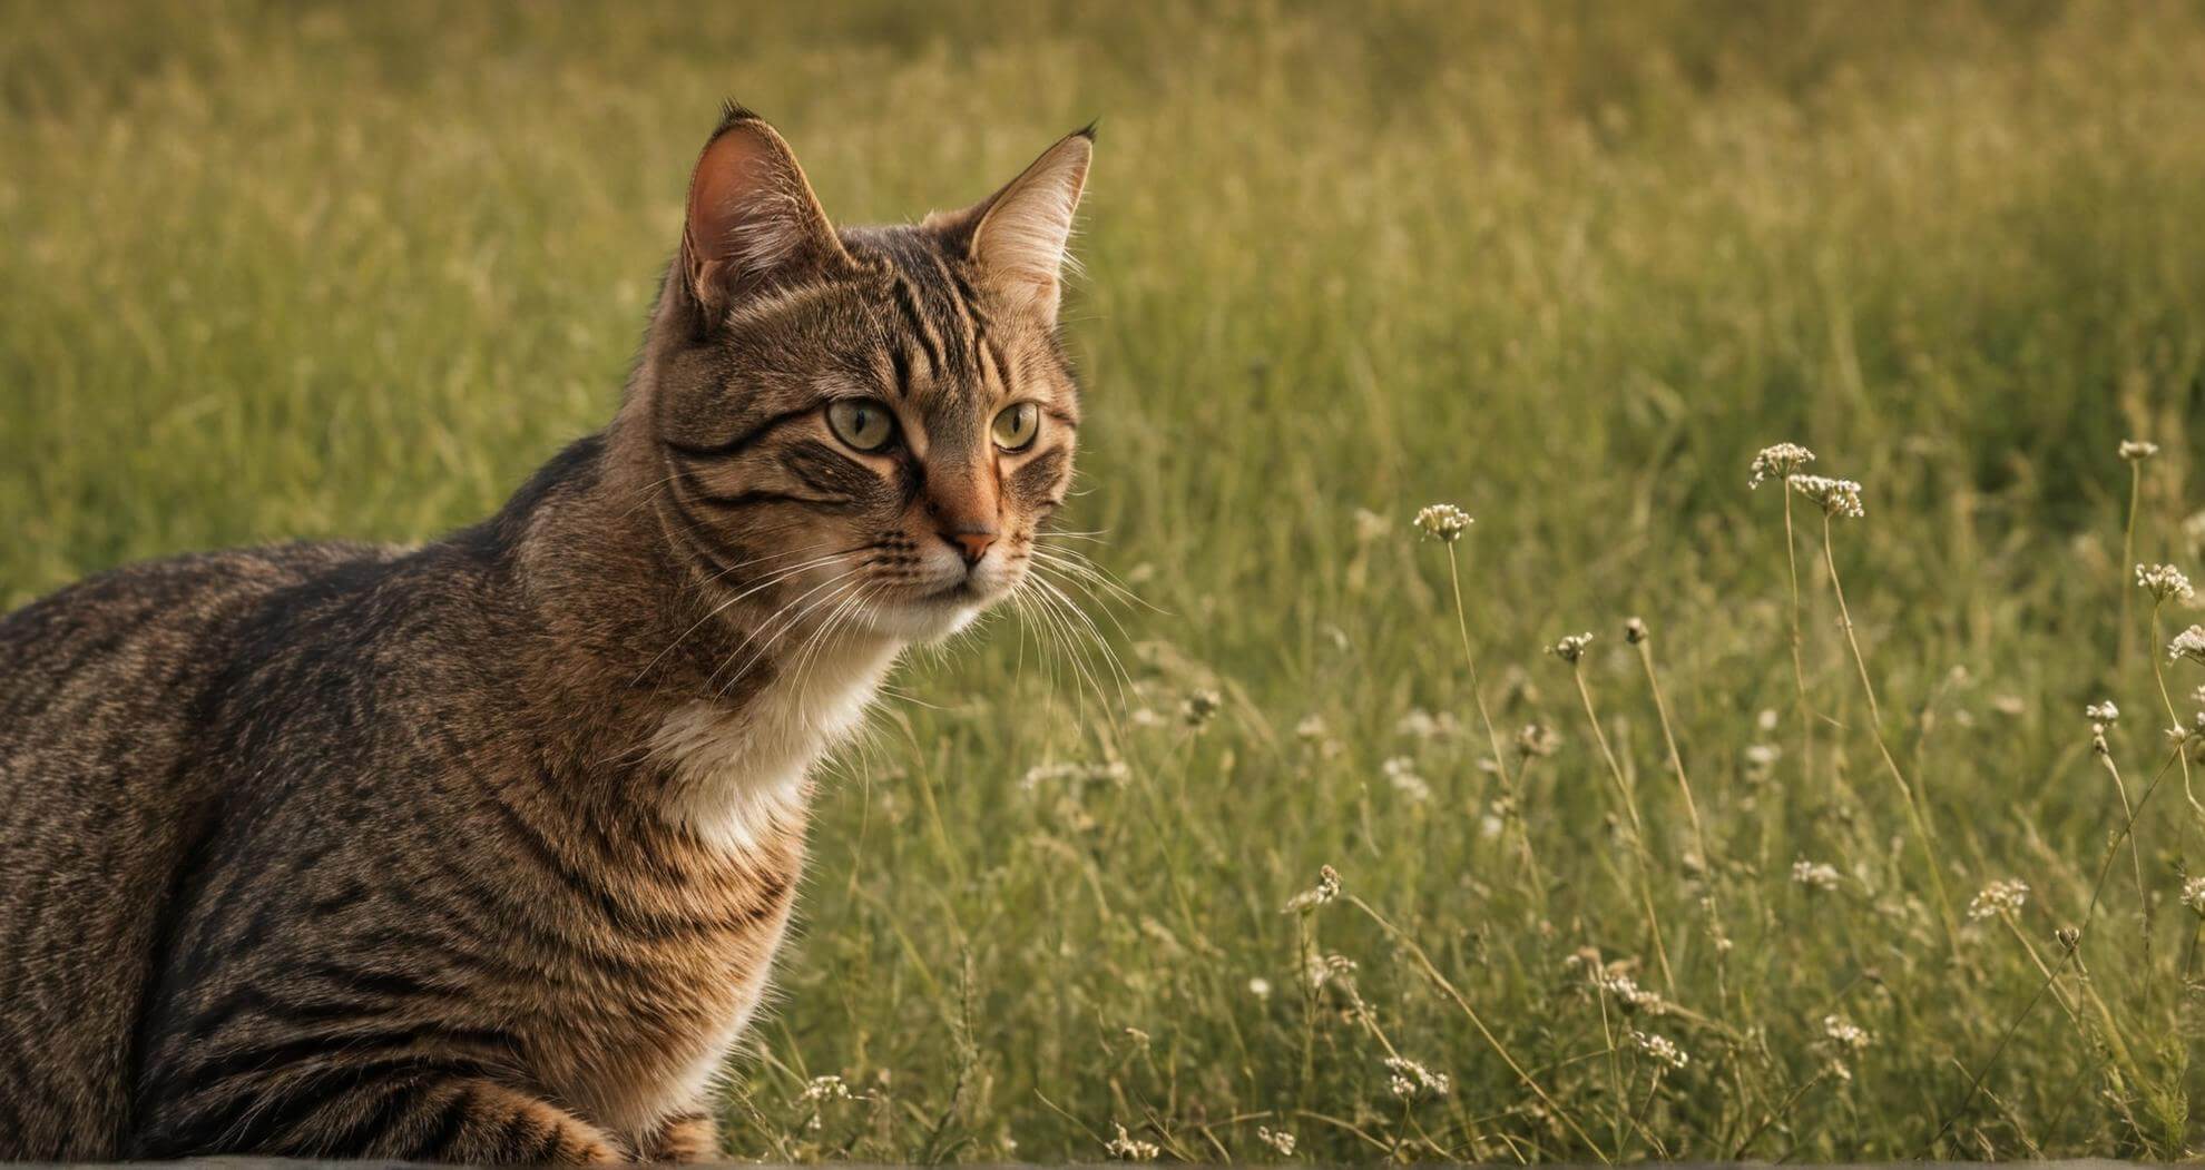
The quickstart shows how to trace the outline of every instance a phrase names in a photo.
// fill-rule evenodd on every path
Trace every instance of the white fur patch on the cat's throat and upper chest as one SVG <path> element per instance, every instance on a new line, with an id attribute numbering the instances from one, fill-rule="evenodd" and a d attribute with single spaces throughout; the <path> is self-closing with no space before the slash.
<path id="1" fill-rule="evenodd" d="M 849 738 L 895 661 L 895 646 L 849 639 L 761 687 L 741 709 L 688 703 L 650 754 L 675 769 L 659 813 L 721 848 L 756 848 L 805 800 L 805 776 Z"/>

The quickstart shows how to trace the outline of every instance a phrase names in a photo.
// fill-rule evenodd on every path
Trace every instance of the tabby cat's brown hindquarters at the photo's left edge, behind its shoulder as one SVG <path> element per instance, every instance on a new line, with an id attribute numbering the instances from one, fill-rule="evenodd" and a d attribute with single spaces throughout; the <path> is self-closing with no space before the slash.
<path id="1" fill-rule="evenodd" d="M 209 813 L 196 732 L 256 617 L 362 544 L 135 564 L 0 617 L 0 1159 L 117 1155 L 163 908 Z"/>

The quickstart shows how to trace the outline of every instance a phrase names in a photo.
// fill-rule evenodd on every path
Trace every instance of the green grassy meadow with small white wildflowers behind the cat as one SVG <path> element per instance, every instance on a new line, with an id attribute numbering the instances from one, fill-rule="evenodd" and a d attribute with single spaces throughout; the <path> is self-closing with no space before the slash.
<path id="1" fill-rule="evenodd" d="M 845 220 L 1100 117 L 1069 524 L 1144 604 L 897 679 L 734 1152 L 2201 1150 L 2201 615 L 2130 571 L 2205 571 L 2198 4 L 0 20 L 7 606 L 496 507 L 723 97 Z M 1777 441 L 1865 485 L 1797 610 Z"/>

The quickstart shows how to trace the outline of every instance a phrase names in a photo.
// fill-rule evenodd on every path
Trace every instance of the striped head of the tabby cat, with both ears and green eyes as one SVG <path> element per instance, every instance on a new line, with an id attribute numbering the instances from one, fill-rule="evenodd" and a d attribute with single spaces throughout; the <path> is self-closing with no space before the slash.
<path id="1" fill-rule="evenodd" d="M 1056 306 L 1089 154 L 1083 130 L 968 209 L 836 229 L 781 134 L 723 117 L 631 401 L 708 588 L 919 641 L 1025 577 L 1072 483 Z"/>

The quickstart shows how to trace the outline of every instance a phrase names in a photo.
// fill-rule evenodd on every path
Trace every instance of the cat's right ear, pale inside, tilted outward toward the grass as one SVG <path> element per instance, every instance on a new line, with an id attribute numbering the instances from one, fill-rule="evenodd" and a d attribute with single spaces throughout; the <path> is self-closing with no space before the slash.
<path id="1" fill-rule="evenodd" d="M 1065 247 L 1087 187 L 1094 137 L 1094 126 L 1067 134 L 1001 192 L 935 220 L 999 295 L 1032 304 L 1047 322 L 1056 322 L 1061 273 L 1074 267 Z"/>

